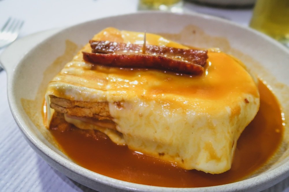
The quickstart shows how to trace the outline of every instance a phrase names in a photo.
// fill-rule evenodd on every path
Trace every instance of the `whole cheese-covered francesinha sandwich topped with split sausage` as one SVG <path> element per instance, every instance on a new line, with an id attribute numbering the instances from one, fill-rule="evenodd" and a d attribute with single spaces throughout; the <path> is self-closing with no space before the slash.
<path id="1" fill-rule="evenodd" d="M 231 168 L 260 102 L 233 57 L 115 28 L 99 32 L 64 66 L 45 99 L 48 126 L 62 113 L 118 145 L 212 174 Z"/>

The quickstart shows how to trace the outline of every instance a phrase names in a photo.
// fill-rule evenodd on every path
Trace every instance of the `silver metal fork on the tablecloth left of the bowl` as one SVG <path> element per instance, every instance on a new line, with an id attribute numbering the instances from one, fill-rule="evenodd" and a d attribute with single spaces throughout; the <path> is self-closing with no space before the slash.
<path id="1" fill-rule="evenodd" d="M 12 43 L 18 37 L 23 23 L 24 21 L 22 20 L 13 19 L 11 17 L 8 18 L 0 31 L 0 49 Z M 2 71 L 2 69 L 3 68 L 0 65 L 0 71 Z"/>

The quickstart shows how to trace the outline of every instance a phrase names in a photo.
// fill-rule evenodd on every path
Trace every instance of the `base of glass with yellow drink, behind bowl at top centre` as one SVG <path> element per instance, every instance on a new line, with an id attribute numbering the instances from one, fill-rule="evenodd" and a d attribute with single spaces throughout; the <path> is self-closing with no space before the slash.
<path id="1" fill-rule="evenodd" d="M 183 11 L 182 0 L 139 0 L 139 10 L 161 10 L 180 13 Z"/>

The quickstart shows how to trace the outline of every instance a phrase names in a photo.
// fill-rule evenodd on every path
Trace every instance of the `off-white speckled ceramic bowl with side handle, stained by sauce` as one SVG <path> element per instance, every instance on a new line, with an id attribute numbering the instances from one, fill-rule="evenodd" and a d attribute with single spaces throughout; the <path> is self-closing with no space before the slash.
<path id="1" fill-rule="evenodd" d="M 25 37 L 13 43 L 0 57 L 8 73 L 12 114 L 29 145 L 48 164 L 98 191 L 259 191 L 289 176 L 288 125 L 282 143 L 285 147 L 283 151 L 279 150 L 273 164 L 251 178 L 227 185 L 202 188 L 140 185 L 97 174 L 71 161 L 55 147 L 51 134 L 43 126 L 41 106 L 46 85 L 81 45 L 108 26 L 162 33 L 170 39 L 197 47 L 220 47 L 242 60 L 251 73 L 271 86 L 281 103 L 285 120 L 289 119 L 289 51 L 273 39 L 232 22 L 200 14 L 142 12 L 103 18 Z"/>

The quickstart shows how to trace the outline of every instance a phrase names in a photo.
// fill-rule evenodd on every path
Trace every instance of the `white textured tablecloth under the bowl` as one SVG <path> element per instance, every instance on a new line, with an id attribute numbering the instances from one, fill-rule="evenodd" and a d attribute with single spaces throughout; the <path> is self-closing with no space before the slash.
<path id="1" fill-rule="evenodd" d="M 68 4 L 69 3 L 69 4 Z M 25 21 L 18 38 L 111 15 L 137 12 L 137 0 L 0 0 L 0 26 L 9 17 Z M 247 26 L 251 8 L 222 9 L 184 3 L 200 12 Z M 3 49 L 0 49 L 0 54 Z M 0 191 L 93 191 L 51 168 L 24 140 L 8 106 L 6 73 L 0 72 Z M 9 89 L 9 88 L 8 88 Z M 289 191 L 289 178 L 265 191 Z"/>

